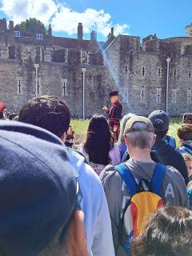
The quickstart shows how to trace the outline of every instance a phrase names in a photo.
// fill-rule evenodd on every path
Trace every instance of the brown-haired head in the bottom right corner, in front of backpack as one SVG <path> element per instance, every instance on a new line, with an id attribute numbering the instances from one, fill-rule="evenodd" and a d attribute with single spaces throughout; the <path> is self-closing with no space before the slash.
<path id="1" fill-rule="evenodd" d="M 179 206 L 160 208 L 145 232 L 134 238 L 131 255 L 192 255 L 192 211 Z"/>

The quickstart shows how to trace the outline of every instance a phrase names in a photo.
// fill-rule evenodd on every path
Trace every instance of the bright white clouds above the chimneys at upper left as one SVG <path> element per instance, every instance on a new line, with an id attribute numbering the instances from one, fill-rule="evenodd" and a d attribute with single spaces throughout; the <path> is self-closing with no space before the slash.
<path id="1" fill-rule="evenodd" d="M 77 33 L 78 22 L 82 22 L 84 33 L 96 30 L 102 36 L 109 34 L 111 26 L 114 26 L 115 35 L 127 34 L 130 27 L 114 24 L 104 10 L 87 8 L 80 13 L 53 0 L 2 0 L 2 11 L 16 23 L 26 18 L 38 18 L 46 26 L 51 23 L 54 31 L 69 35 Z"/>

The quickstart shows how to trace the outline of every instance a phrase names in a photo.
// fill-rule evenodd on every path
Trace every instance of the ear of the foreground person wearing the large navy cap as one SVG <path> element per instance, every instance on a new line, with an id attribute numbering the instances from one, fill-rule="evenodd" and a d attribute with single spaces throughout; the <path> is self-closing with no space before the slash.
<path id="1" fill-rule="evenodd" d="M 67 241 L 70 244 L 71 255 L 89 256 L 86 250 L 86 231 L 84 227 L 84 214 L 76 210 L 70 222 Z"/>

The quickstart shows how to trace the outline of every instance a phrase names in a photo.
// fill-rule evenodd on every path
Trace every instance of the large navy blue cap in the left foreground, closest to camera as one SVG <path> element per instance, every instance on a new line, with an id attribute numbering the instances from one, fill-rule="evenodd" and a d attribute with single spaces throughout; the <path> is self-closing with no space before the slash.
<path id="1" fill-rule="evenodd" d="M 75 171 L 54 134 L 0 122 L 0 251 L 37 255 L 74 212 Z"/>

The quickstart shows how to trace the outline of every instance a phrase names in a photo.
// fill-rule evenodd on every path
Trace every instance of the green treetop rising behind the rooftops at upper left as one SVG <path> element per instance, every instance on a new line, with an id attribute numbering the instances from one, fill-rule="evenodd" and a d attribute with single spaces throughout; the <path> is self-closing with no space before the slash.
<path id="1" fill-rule="evenodd" d="M 18 24 L 18 26 L 21 31 L 47 34 L 46 27 L 37 18 L 26 19 L 26 21 L 21 22 L 20 24 Z"/>

